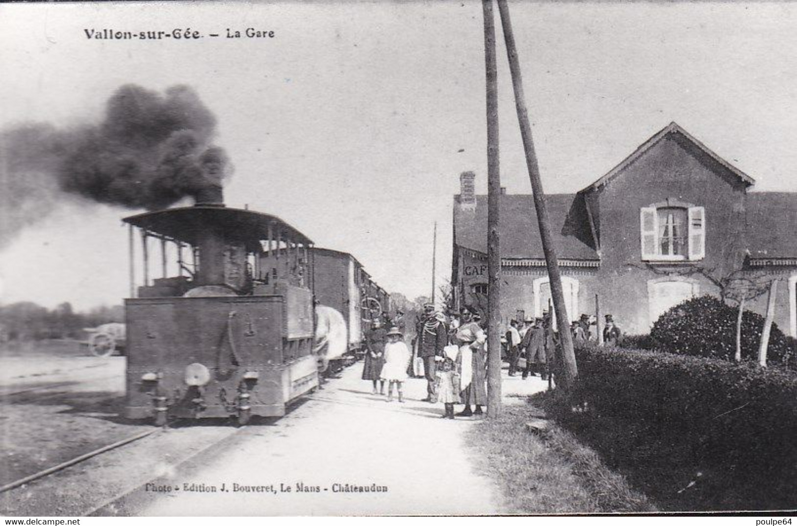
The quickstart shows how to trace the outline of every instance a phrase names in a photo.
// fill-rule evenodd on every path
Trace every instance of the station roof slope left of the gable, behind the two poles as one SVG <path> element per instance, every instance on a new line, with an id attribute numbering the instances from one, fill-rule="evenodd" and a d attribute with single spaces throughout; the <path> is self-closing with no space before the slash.
<path id="1" fill-rule="evenodd" d="M 599 261 L 589 243 L 591 234 L 586 210 L 575 194 L 548 194 L 545 208 L 552 223 L 556 256 L 559 259 Z M 487 253 L 487 196 L 476 196 L 475 210 L 461 210 L 454 202 L 454 242 L 477 253 Z M 586 229 L 586 230 L 585 230 Z M 501 257 L 544 259 L 534 198 L 529 194 L 501 195 Z"/>

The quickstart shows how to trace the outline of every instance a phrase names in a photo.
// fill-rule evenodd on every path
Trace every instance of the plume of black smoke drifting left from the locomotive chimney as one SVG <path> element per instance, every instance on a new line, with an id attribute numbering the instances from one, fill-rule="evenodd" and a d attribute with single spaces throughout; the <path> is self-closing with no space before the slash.
<path id="1" fill-rule="evenodd" d="M 65 194 L 157 210 L 221 186 L 231 168 L 211 143 L 215 126 L 187 86 L 161 95 L 128 84 L 108 100 L 100 124 L 73 130 L 26 124 L 0 132 L 0 248 Z"/>

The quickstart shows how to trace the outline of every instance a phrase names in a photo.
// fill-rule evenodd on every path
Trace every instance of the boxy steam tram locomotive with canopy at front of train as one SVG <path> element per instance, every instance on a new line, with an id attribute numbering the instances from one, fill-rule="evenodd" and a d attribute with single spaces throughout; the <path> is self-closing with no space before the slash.
<path id="1" fill-rule="evenodd" d="M 304 234 L 273 215 L 218 202 L 124 222 L 131 261 L 135 230 L 143 241 L 143 285 L 125 300 L 128 418 L 244 423 L 285 414 L 318 386 L 312 241 Z M 154 280 L 152 241 L 162 274 Z M 132 292 L 135 277 L 132 262 Z"/>

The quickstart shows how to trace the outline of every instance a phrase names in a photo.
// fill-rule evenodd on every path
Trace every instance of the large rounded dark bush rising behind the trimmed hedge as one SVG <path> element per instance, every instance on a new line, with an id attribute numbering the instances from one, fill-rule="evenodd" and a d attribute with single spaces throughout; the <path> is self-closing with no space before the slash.
<path id="1" fill-rule="evenodd" d="M 713 296 L 686 300 L 662 314 L 650 337 L 663 351 L 680 355 L 724 360 L 736 354 L 736 319 L 739 308 L 730 307 Z M 742 316 L 742 359 L 758 359 L 764 317 L 744 311 Z M 787 365 L 794 350 L 776 324 L 772 324 L 767 351 L 768 363 Z"/>

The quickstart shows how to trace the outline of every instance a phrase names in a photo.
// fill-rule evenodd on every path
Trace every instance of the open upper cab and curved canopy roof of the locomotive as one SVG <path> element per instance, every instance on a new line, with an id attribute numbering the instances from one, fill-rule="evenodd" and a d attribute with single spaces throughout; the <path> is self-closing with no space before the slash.
<path id="1" fill-rule="evenodd" d="M 130 228 L 131 297 L 265 295 L 284 285 L 312 289 L 312 241 L 276 216 L 199 204 L 123 221 Z"/>

